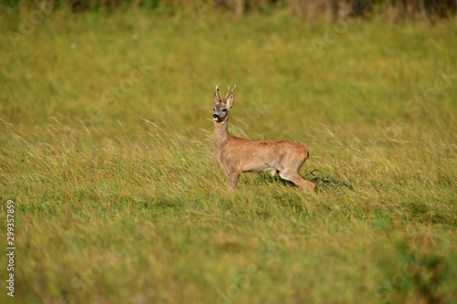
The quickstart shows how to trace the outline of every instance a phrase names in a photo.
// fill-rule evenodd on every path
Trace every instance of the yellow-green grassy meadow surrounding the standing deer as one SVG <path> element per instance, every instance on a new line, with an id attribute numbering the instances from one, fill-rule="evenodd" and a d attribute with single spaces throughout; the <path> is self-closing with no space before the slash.
<path id="1" fill-rule="evenodd" d="M 201 14 L 62 9 L 24 35 L 2 10 L 0 302 L 456 303 L 455 20 Z M 232 135 L 308 146 L 318 194 L 228 190 L 218 83 Z"/>

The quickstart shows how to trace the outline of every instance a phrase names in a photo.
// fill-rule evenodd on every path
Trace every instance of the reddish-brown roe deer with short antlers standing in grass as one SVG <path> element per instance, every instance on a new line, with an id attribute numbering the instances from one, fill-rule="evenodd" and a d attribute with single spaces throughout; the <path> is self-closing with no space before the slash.
<path id="1" fill-rule="evenodd" d="M 218 87 L 214 92 L 216 106 L 213 109 L 214 145 L 218 162 L 228 175 L 231 189 L 237 187 L 239 173 L 270 171 L 295 183 L 303 190 L 314 192 L 315 184 L 303 179 L 299 170 L 309 156 L 302 144 L 288 141 L 248 141 L 228 134 L 228 111 L 235 102 L 233 91 L 228 87 L 227 96 L 220 100 Z"/>

